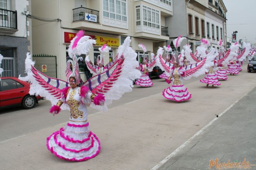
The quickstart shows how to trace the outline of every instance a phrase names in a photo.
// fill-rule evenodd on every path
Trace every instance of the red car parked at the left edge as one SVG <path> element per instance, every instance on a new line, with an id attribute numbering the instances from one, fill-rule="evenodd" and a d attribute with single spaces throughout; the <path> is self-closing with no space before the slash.
<path id="1" fill-rule="evenodd" d="M 16 77 L 1 77 L 0 81 L 0 108 L 20 105 L 25 109 L 33 108 L 41 96 L 29 94 L 30 83 Z"/>

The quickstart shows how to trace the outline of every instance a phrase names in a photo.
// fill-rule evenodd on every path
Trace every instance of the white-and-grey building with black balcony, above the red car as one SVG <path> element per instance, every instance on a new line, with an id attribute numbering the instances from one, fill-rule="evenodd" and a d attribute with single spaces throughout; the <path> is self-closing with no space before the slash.
<path id="1" fill-rule="evenodd" d="M 1 76 L 24 75 L 26 53 L 32 52 L 31 0 L 0 0 Z"/>

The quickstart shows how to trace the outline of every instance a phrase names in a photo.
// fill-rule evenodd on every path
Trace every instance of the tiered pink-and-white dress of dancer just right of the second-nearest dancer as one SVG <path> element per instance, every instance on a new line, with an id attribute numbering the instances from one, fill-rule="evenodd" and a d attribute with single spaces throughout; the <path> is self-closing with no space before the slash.
<path id="1" fill-rule="evenodd" d="M 218 77 L 215 74 L 215 70 L 217 69 L 217 62 L 214 61 L 214 66 L 209 67 L 207 75 L 204 79 L 200 80 L 201 83 L 212 84 L 220 86 L 220 82 L 218 81 Z"/>

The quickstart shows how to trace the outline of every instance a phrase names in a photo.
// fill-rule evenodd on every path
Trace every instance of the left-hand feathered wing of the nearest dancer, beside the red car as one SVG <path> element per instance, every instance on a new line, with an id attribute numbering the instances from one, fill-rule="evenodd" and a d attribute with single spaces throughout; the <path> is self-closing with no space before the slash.
<path id="1" fill-rule="evenodd" d="M 19 79 L 30 82 L 29 93 L 31 95 L 40 95 L 41 97 L 45 97 L 46 100 L 51 101 L 52 105 L 56 104 L 61 98 L 60 89 L 68 87 L 68 82 L 44 75 L 34 68 L 34 64 L 35 62 L 32 61 L 32 56 L 27 53 L 25 60 L 25 72 L 27 76 L 21 77 L 19 75 Z M 63 104 L 61 109 L 66 110 L 68 107 Z"/>

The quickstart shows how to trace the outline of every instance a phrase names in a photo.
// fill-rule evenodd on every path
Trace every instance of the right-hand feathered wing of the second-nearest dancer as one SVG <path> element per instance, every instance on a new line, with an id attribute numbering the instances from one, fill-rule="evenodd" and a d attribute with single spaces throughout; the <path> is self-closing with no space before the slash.
<path id="1" fill-rule="evenodd" d="M 212 60 L 214 59 L 214 57 L 215 49 L 211 48 L 210 53 L 208 53 L 207 56 L 202 61 L 184 66 L 186 70 L 184 79 L 188 80 L 191 79 L 191 77 L 198 77 L 200 75 L 205 74 L 205 72 L 207 72 L 206 68 L 213 65 Z"/>

